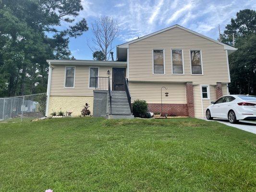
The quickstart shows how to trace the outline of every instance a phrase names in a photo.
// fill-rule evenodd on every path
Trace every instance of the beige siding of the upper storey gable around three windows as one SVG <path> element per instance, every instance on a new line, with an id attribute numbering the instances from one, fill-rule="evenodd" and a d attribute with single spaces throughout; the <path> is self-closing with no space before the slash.
<path id="1" fill-rule="evenodd" d="M 183 49 L 184 75 L 171 74 L 171 48 Z M 165 74 L 153 74 L 153 49 L 164 49 Z M 191 75 L 190 49 L 201 49 L 203 75 Z M 129 45 L 131 81 L 193 82 L 216 84 L 229 82 L 226 51 L 214 43 L 175 27 Z"/>

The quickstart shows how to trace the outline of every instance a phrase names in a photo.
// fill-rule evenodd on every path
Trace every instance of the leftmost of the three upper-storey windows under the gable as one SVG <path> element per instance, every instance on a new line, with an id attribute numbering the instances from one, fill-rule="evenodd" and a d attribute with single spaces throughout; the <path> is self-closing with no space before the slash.
<path id="1" fill-rule="evenodd" d="M 164 50 L 153 50 L 154 74 L 164 74 Z"/>

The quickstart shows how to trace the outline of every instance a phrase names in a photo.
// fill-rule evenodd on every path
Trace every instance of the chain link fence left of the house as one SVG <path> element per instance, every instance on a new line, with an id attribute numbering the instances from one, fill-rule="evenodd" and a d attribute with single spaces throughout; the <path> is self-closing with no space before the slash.
<path id="1" fill-rule="evenodd" d="M 31 121 L 45 117 L 46 93 L 0 98 L 0 122 Z"/>

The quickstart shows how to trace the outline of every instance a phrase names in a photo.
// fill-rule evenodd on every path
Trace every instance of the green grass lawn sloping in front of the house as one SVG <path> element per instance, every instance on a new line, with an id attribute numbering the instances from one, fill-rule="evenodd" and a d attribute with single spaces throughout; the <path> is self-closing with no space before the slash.
<path id="1" fill-rule="evenodd" d="M 191 118 L 0 124 L 0 192 L 255 192 L 256 135 Z"/>

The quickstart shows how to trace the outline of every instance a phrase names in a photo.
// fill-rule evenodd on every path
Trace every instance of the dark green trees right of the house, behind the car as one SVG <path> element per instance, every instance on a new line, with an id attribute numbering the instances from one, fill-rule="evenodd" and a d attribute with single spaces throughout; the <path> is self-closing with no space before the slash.
<path id="1" fill-rule="evenodd" d="M 223 43 L 233 45 L 237 51 L 229 56 L 231 94 L 256 94 L 256 12 L 245 9 L 227 24 Z"/>

